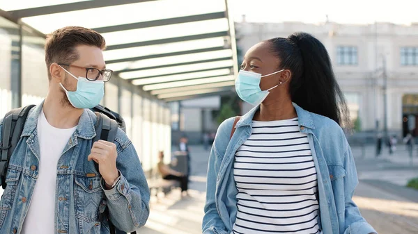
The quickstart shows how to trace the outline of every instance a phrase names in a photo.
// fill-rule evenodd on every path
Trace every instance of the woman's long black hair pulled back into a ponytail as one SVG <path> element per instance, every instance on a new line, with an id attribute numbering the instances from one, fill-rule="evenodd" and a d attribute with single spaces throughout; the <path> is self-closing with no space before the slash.
<path id="1" fill-rule="evenodd" d="M 288 38 L 274 38 L 268 42 L 281 59 L 280 68 L 292 72 L 292 101 L 304 110 L 348 127 L 350 116 L 346 101 L 324 45 L 308 33 L 293 33 Z"/>

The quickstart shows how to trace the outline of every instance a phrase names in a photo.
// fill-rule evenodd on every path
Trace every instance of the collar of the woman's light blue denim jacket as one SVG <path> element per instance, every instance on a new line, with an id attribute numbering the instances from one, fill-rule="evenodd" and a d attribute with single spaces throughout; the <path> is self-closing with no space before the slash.
<path id="1" fill-rule="evenodd" d="M 293 107 L 296 110 L 297 113 L 297 119 L 299 119 L 299 126 L 304 126 L 305 128 L 311 128 L 311 129 L 315 129 L 315 125 L 314 125 L 314 119 L 312 118 L 312 113 L 304 110 L 303 108 L 301 108 L 300 106 L 297 106 L 296 103 L 293 103 Z M 236 127 L 240 127 L 240 126 L 251 126 L 252 120 L 254 115 L 256 114 L 257 110 L 260 108 L 260 106 L 256 106 L 254 108 L 252 108 L 251 110 L 249 110 L 249 112 L 247 112 L 247 114 L 242 115 L 240 121 L 238 121 Z"/>

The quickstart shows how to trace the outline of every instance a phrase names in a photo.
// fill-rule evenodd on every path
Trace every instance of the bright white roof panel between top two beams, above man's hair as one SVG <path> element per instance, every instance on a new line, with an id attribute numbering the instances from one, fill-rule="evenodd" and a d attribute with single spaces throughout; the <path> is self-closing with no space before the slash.
<path id="1" fill-rule="evenodd" d="M 49 33 L 56 28 L 68 25 L 100 28 L 210 12 L 222 12 L 224 10 L 224 0 L 164 0 L 40 15 L 24 18 L 23 20 L 34 28 L 38 28 L 42 33 Z"/>

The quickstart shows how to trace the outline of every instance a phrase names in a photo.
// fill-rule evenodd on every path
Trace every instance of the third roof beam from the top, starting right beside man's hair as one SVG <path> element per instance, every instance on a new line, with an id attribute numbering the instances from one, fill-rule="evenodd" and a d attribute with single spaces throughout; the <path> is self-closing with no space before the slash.
<path id="1" fill-rule="evenodd" d="M 134 43 L 127 43 L 127 44 L 115 44 L 112 46 L 107 47 L 106 50 L 112 50 L 112 49 L 125 49 L 130 47 L 145 47 L 150 46 L 154 44 L 165 44 L 165 43 L 172 43 L 172 42 L 184 42 L 187 40 L 199 40 L 199 39 L 206 39 L 211 37 L 225 37 L 228 35 L 227 31 L 224 32 L 218 32 L 218 33 L 205 33 L 200 35 L 189 35 L 184 37 L 173 37 L 173 38 L 166 38 L 166 39 L 160 39 L 160 40 L 151 40 L 146 42 L 134 42 Z"/>

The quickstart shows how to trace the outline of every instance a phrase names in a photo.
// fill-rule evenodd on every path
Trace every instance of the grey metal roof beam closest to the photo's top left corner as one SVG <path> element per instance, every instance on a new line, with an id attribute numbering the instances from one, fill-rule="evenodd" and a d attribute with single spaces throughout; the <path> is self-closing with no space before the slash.
<path id="1" fill-rule="evenodd" d="M 95 1 L 81 1 L 75 3 L 65 3 L 54 6 L 40 6 L 38 8 L 28 8 L 22 10 L 10 10 L 8 11 L 10 15 L 17 19 L 22 19 L 24 17 L 33 17 L 38 15 L 49 15 L 61 12 L 70 12 L 75 10 L 86 10 L 93 8 L 102 8 L 107 6 L 118 6 L 125 5 L 130 3 L 141 3 L 146 1 L 156 1 L 156 0 L 95 0 Z"/>

